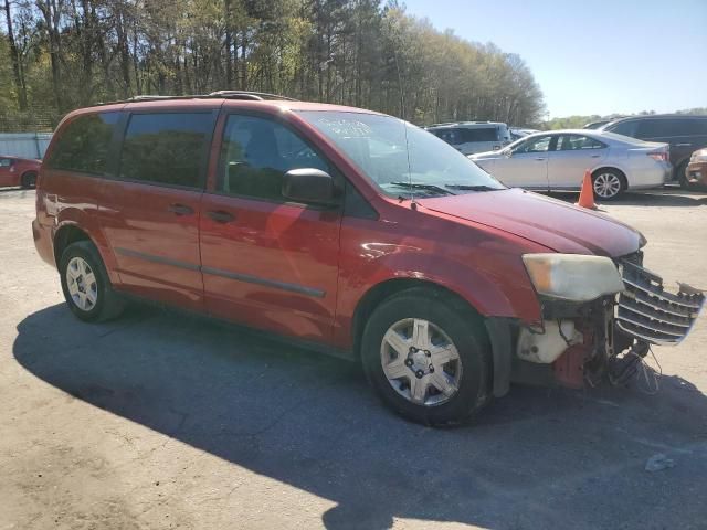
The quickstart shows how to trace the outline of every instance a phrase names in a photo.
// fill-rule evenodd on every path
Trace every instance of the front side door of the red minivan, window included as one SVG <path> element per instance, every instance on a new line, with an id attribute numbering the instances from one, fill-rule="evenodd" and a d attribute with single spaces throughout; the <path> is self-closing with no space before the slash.
<path id="1" fill-rule="evenodd" d="M 265 116 L 228 116 L 220 158 L 215 187 L 201 201 L 207 310 L 279 335 L 327 340 L 340 208 L 289 202 L 282 181 L 291 169 L 335 171 L 293 129 Z"/>

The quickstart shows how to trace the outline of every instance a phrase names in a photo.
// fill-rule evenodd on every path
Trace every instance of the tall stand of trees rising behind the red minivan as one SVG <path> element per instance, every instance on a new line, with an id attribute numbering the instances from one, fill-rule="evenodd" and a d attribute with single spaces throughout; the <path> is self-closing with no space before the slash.
<path id="1" fill-rule="evenodd" d="M 440 32 L 395 1 L 14 0 L 10 13 L 12 40 L 7 20 L 0 33 L 0 129 L 35 114 L 55 125 L 73 108 L 138 94 L 218 89 L 362 106 L 419 124 L 523 126 L 544 110 L 518 55 Z"/>

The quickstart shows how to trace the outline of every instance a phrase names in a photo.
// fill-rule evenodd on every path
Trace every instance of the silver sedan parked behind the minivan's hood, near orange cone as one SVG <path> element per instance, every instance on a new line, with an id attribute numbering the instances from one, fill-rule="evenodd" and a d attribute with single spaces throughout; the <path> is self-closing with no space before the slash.
<path id="1" fill-rule="evenodd" d="M 625 190 L 662 187 L 671 178 L 669 146 L 588 129 L 536 132 L 499 151 L 472 155 L 508 187 L 579 190 L 590 170 L 594 195 L 614 199 Z"/>

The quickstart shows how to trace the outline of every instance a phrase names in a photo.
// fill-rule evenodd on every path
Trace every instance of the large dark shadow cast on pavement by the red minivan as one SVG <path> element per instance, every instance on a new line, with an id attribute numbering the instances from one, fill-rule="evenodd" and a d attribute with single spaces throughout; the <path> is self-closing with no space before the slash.
<path id="1" fill-rule="evenodd" d="M 394 518 L 646 528 L 636 502 L 651 507 L 651 528 L 705 520 L 686 498 L 707 490 L 707 396 L 677 377 L 664 377 L 657 395 L 514 388 L 475 425 L 434 430 L 390 414 L 356 364 L 199 318 L 139 306 L 89 326 L 57 305 L 18 331 L 13 353 L 32 374 L 335 501 L 323 515 L 329 529 Z M 675 468 L 644 471 L 655 453 Z"/>

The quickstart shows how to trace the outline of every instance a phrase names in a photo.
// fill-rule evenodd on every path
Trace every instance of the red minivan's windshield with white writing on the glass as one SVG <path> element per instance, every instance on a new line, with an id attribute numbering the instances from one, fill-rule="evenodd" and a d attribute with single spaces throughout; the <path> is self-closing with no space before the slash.
<path id="1" fill-rule="evenodd" d="M 505 189 L 445 141 L 401 119 L 328 110 L 302 110 L 299 115 L 389 195 Z"/>

